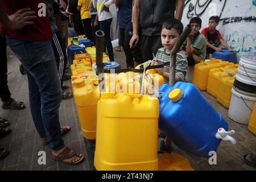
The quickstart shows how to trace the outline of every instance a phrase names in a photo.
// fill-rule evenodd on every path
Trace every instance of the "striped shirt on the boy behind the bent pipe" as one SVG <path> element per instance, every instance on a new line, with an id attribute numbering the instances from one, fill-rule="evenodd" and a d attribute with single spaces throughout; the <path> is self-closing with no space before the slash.
<path id="1" fill-rule="evenodd" d="M 155 61 L 158 62 L 158 64 L 163 64 L 166 62 L 170 62 L 170 53 L 166 52 L 166 48 L 162 47 L 158 49 L 158 52 L 155 56 Z M 183 51 L 177 52 L 176 55 L 176 73 L 175 75 L 180 78 L 180 81 L 185 80 L 185 76 L 187 74 L 187 68 L 188 68 L 188 60 L 184 54 Z M 163 70 L 167 73 L 170 73 L 170 65 L 166 65 L 163 67 Z M 169 83 L 169 81 L 164 78 L 164 83 Z"/>

